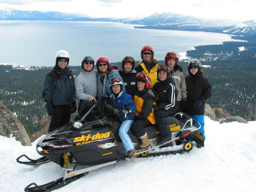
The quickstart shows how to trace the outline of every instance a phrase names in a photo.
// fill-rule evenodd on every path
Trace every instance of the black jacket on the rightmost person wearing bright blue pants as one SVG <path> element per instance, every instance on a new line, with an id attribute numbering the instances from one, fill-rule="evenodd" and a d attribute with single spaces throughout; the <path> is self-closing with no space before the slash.
<path id="1" fill-rule="evenodd" d="M 205 100 L 211 96 L 211 85 L 202 74 L 193 76 L 189 74 L 185 77 L 187 86 L 187 104 L 184 112 L 188 115 L 204 115 Z M 197 99 L 203 101 L 198 111 L 193 109 L 193 105 Z"/>

